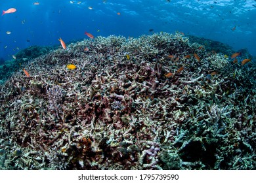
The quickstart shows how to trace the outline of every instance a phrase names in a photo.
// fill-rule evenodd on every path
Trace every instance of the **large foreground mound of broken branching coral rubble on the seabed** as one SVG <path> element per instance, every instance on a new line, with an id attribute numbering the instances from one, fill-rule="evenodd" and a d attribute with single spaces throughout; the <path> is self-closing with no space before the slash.
<path id="1" fill-rule="evenodd" d="M 0 86 L 0 169 L 256 169 L 256 67 L 242 59 L 160 33 L 22 63 Z"/>

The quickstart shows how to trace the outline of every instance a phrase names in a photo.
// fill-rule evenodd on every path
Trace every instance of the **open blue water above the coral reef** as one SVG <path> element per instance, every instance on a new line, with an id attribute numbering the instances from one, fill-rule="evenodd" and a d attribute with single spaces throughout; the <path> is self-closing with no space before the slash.
<path id="1" fill-rule="evenodd" d="M 28 46 L 59 45 L 59 37 L 66 43 L 89 39 L 85 31 L 95 37 L 182 31 L 224 42 L 234 50 L 247 48 L 256 56 L 256 0 L 1 0 L 0 10 L 9 8 L 16 12 L 0 17 L 4 59 Z"/>

